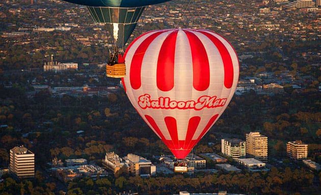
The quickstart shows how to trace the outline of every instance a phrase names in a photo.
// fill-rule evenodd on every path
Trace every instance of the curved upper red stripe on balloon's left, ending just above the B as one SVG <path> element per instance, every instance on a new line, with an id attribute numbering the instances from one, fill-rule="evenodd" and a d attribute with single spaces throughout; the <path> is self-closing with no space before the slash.
<path id="1" fill-rule="evenodd" d="M 129 74 L 129 80 L 130 85 L 133 89 L 139 89 L 142 85 L 142 62 L 144 59 L 145 52 L 148 48 L 148 46 L 151 44 L 152 41 L 159 35 L 163 33 L 163 31 L 155 32 L 151 36 L 147 37 L 137 48 L 134 56 L 131 59 L 130 64 L 130 74 Z"/>

